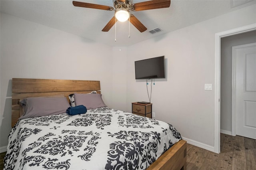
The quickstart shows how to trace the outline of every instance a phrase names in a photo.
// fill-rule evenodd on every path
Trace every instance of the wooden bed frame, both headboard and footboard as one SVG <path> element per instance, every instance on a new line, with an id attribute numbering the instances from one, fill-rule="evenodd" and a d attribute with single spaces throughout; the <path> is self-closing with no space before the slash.
<path id="1" fill-rule="evenodd" d="M 100 93 L 100 81 L 58 79 L 12 79 L 12 127 L 22 115 L 19 101 L 27 97 Z M 160 156 L 147 170 L 186 170 L 186 141 L 180 140 Z"/>

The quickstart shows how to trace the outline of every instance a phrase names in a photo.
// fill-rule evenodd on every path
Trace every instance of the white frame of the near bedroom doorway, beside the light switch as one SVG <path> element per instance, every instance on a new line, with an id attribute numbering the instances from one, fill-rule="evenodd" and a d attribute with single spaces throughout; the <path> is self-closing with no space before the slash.
<path id="1" fill-rule="evenodd" d="M 220 153 L 220 40 L 256 30 L 256 23 L 215 34 L 214 152 Z"/>

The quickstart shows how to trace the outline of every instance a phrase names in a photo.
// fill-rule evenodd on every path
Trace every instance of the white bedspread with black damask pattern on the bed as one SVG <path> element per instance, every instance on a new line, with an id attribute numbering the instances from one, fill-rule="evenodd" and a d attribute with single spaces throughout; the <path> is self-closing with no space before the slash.
<path id="1" fill-rule="evenodd" d="M 172 125 L 102 107 L 23 119 L 9 135 L 5 170 L 146 169 L 181 139 Z"/>

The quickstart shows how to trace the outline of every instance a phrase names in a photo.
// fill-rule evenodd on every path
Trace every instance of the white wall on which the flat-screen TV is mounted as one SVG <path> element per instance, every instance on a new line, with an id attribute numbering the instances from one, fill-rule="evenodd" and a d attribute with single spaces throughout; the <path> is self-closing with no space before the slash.
<path id="1" fill-rule="evenodd" d="M 152 89 L 156 119 L 172 123 L 190 143 L 214 150 L 215 34 L 256 23 L 256 5 L 128 47 L 127 110 L 147 101 L 145 81 L 136 81 L 134 61 L 165 55 L 167 78 Z M 135 52 L 136 51 L 136 52 Z M 213 90 L 205 91 L 204 83 Z"/>

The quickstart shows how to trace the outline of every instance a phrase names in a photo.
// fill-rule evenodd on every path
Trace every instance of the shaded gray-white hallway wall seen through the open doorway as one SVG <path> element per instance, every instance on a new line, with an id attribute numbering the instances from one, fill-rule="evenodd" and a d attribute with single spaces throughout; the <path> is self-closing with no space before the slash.
<path id="1" fill-rule="evenodd" d="M 220 129 L 232 132 L 232 46 L 256 42 L 256 31 L 221 38 Z"/>

